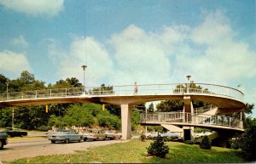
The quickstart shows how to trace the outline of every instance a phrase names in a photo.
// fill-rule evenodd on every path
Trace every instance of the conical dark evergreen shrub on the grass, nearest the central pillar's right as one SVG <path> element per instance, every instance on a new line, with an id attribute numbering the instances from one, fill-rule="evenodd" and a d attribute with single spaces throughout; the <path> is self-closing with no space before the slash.
<path id="1" fill-rule="evenodd" d="M 165 158 L 166 154 L 169 152 L 170 148 L 166 145 L 163 138 L 158 135 L 154 142 L 150 143 L 147 148 L 148 154 L 151 156 L 157 156 L 160 158 Z"/>

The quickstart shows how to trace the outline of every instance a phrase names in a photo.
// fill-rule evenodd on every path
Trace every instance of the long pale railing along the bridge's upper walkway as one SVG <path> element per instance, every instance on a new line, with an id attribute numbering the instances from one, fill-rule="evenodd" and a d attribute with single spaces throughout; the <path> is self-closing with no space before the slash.
<path id="1" fill-rule="evenodd" d="M 55 97 L 71 97 L 82 95 L 169 95 L 169 94 L 216 94 L 227 96 L 233 99 L 243 99 L 243 93 L 235 88 L 224 87 L 206 83 L 172 83 L 172 84 L 145 84 L 137 85 L 138 91 L 134 93 L 134 85 L 108 86 L 105 88 L 56 88 L 35 91 L 24 91 L 0 94 L 0 101 L 16 99 L 43 99 Z M 194 86 L 194 87 L 193 87 Z M 106 89 L 108 88 L 108 89 Z"/>

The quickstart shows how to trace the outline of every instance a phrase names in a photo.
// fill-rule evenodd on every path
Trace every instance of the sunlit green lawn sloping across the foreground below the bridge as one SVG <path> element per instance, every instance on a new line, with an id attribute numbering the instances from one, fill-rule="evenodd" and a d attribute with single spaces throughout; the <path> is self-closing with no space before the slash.
<path id="1" fill-rule="evenodd" d="M 9 163 L 216 163 L 244 162 L 236 156 L 236 150 L 212 146 L 212 150 L 201 150 L 199 145 L 166 143 L 170 147 L 165 159 L 147 156 L 146 147 L 150 142 L 131 140 L 127 143 L 110 144 L 91 148 L 87 151 L 76 151 L 70 155 L 38 156 L 24 158 Z M 5 162 L 4 162 L 5 163 Z"/>

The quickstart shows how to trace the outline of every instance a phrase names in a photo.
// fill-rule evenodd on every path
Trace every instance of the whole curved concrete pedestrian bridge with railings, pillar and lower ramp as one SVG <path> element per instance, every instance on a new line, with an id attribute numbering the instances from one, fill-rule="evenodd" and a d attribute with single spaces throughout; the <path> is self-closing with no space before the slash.
<path id="1" fill-rule="evenodd" d="M 0 108 L 24 105 L 47 105 L 64 103 L 108 103 L 121 106 L 122 136 L 131 138 L 132 106 L 156 101 L 180 99 L 184 102 L 182 112 L 142 114 L 141 123 L 172 124 L 181 127 L 209 127 L 242 131 L 241 120 L 224 114 L 241 111 L 245 104 L 243 93 L 236 88 L 207 83 L 170 83 L 90 87 L 57 88 L 0 94 Z M 216 105 L 210 116 L 195 113 L 192 100 Z M 215 116 L 215 117 L 214 117 Z M 220 121 L 222 120 L 222 121 Z M 220 123 L 222 122 L 222 123 Z"/>

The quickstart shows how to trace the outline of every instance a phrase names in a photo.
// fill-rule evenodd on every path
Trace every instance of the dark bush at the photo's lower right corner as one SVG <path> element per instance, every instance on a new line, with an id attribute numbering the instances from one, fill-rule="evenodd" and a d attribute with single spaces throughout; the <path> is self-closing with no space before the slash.
<path id="1" fill-rule="evenodd" d="M 241 151 L 246 161 L 256 161 L 256 125 L 248 127 L 241 136 Z"/>

